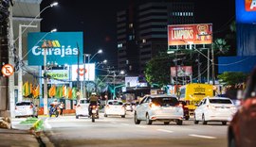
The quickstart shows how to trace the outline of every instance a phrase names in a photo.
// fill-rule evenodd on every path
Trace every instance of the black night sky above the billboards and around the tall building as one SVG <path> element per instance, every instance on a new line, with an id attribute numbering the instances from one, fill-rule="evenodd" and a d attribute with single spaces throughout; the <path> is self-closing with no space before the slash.
<path id="1" fill-rule="evenodd" d="M 107 59 L 109 64 L 115 64 L 117 62 L 117 11 L 128 8 L 129 1 L 132 0 L 57 0 L 59 3 L 57 8 L 48 8 L 41 14 L 43 18 L 41 31 L 48 32 L 52 28 L 57 28 L 59 32 L 82 31 L 84 53 L 93 55 L 102 49 L 103 54 L 95 59 L 98 61 Z M 212 23 L 213 38 L 223 36 L 224 31 L 228 29 L 229 21 L 234 20 L 235 0 L 187 1 L 195 4 L 196 24 Z M 55 1 L 43 0 L 41 9 L 52 2 Z"/>

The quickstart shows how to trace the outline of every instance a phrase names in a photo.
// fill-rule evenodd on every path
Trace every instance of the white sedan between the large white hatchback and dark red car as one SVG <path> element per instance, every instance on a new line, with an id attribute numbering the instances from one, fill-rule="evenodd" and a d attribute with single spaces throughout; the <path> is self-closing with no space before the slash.
<path id="1" fill-rule="evenodd" d="M 231 121 L 232 116 L 237 111 L 237 107 L 226 97 L 206 97 L 194 110 L 194 123 L 202 121 L 207 122 L 222 122 L 226 125 Z"/>

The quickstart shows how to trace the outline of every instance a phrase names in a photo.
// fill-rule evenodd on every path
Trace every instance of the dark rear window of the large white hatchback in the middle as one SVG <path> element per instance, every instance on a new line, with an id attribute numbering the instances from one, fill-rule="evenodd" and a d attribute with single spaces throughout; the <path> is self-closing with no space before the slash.
<path id="1" fill-rule="evenodd" d="M 175 106 L 178 100 L 175 97 L 157 97 L 153 98 L 152 102 L 160 106 Z"/>

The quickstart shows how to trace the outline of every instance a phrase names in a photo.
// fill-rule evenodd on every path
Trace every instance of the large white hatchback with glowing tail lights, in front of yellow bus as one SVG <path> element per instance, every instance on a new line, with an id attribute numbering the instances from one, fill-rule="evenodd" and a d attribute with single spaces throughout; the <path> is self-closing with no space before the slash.
<path id="1" fill-rule="evenodd" d="M 140 121 L 146 121 L 147 124 L 159 121 L 164 124 L 176 122 L 176 124 L 182 125 L 182 118 L 183 108 L 177 97 L 165 94 L 144 96 L 137 104 L 134 114 L 136 124 L 139 124 Z"/>

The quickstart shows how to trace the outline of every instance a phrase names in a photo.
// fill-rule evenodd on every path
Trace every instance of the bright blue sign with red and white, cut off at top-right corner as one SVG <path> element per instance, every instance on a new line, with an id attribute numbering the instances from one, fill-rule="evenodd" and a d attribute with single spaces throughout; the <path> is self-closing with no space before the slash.
<path id="1" fill-rule="evenodd" d="M 256 0 L 236 0 L 236 23 L 256 23 Z"/>

